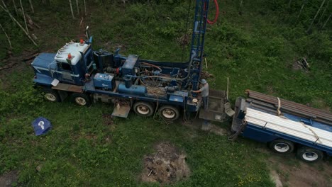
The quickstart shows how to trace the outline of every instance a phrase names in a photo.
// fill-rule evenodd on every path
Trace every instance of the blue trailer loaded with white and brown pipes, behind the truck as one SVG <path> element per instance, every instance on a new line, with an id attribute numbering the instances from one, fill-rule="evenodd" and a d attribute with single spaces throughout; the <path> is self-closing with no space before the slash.
<path id="1" fill-rule="evenodd" d="M 247 91 L 236 100 L 231 140 L 238 135 L 266 142 L 280 154 L 297 152 L 304 162 L 332 156 L 332 114 L 281 98 Z"/>

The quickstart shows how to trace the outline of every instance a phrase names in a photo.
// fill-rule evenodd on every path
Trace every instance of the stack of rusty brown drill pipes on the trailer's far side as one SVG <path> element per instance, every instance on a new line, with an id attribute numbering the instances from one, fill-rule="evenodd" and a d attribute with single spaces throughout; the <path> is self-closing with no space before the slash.
<path id="1" fill-rule="evenodd" d="M 268 96 L 266 94 L 251 90 L 246 90 L 245 93 L 248 94 L 248 102 L 253 103 L 256 106 L 270 108 L 277 111 L 277 97 Z M 332 113 L 328 113 L 327 111 L 322 111 L 317 108 L 311 108 L 309 106 L 305 106 L 299 103 L 294 103 L 292 101 L 287 101 L 282 98 L 280 98 L 280 111 L 283 113 L 297 115 L 301 118 L 312 119 L 319 123 L 332 125 Z"/>

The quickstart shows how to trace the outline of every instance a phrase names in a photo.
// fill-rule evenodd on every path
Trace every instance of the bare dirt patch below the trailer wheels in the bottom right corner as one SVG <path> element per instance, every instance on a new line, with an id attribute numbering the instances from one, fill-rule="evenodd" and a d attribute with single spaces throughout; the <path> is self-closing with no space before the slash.
<path id="1" fill-rule="evenodd" d="M 287 159 L 277 157 L 271 157 L 268 160 L 268 164 L 273 168 L 270 175 L 276 186 L 280 185 L 280 183 L 284 186 L 331 186 L 331 163 L 306 164 L 295 160 L 294 162 L 285 160 Z"/>

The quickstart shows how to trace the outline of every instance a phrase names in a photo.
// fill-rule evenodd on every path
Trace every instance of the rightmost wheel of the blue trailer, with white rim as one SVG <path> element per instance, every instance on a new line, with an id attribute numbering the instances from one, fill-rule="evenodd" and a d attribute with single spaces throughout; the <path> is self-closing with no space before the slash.
<path id="1" fill-rule="evenodd" d="M 323 159 L 323 152 L 311 147 L 297 149 L 297 157 L 304 162 L 318 162 Z"/>

